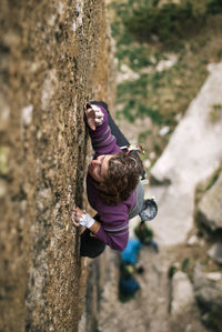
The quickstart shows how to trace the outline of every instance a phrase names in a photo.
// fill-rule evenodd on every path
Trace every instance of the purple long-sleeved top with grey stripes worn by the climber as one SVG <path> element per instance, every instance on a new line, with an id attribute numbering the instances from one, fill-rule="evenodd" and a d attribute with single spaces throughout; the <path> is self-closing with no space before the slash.
<path id="1" fill-rule="evenodd" d="M 107 111 L 101 105 L 98 107 L 104 114 L 102 124 L 92 131 L 85 121 L 89 128 L 92 148 L 95 152 L 94 159 L 101 154 L 115 154 L 121 152 L 121 149 L 117 145 L 115 138 L 111 134 Z M 88 173 L 87 193 L 90 205 L 98 211 L 100 217 L 101 227 L 94 234 L 95 238 L 112 249 L 124 250 L 129 240 L 129 212 L 135 203 L 135 191 L 132 192 L 128 200 L 117 205 L 108 205 L 102 201 L 99 190 L 93 185 L 92 177 Z"/>

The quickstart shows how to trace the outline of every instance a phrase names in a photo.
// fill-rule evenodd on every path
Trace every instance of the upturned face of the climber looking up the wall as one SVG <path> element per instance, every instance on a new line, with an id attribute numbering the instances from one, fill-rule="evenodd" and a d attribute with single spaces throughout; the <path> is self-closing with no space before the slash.
<path id="1" fill-rule="evenodd" d="M 108 172 L 109 160 L 113 157 L 113 154 L 102 154 L 97 159 L 92 160 L 88 167 L 88 171 L 90 175 L 97 182 L 103 182 Z"/>

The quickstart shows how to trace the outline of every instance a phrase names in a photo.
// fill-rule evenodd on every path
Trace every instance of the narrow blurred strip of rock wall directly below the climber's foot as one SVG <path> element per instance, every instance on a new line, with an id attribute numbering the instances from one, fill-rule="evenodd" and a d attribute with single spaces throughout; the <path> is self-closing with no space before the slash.
<path id="1" fill-rule="evenodd" d="M 84 311 L 79 332 L 103 331 L 103 326 L 100 325 L 101 316 L 105 316 L 113 303 L 115 309 L 122 309 L 118 301 L 119 259 L 119 254 L 107 247 L 104 253 L 90 260 Z M 107 322 L 112 323 L 113 320 L 114 316 L 111 315 Z M 112 329 L 118 331 L 113 325 Z"/>

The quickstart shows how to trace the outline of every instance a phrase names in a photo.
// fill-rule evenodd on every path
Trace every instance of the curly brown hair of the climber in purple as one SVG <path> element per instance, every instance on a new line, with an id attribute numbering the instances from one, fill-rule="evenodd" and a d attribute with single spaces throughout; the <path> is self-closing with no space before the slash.
<path id="1" fill-rule="evenodd" d="M 109 160 L 104 181 L 94 184 L 103 202 L 108 205 L 115 205 L 127 200 L 137 188 L 142 170 L 142 162 L 134 153 L 114 154 Z"/>

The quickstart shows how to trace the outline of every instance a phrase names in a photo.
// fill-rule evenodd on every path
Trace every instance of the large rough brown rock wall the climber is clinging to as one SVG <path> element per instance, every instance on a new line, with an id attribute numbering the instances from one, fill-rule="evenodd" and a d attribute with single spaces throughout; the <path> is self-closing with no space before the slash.
<path id="1" fill-rule="evenodd" d="M 102 0 L 0 3 L 0 331 L 77 331 L 83 104 L 114 101 Z M 84 204 L 85 208 L 85 204 Z"/>

